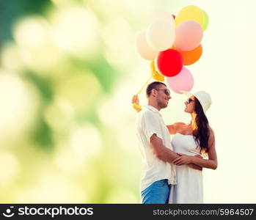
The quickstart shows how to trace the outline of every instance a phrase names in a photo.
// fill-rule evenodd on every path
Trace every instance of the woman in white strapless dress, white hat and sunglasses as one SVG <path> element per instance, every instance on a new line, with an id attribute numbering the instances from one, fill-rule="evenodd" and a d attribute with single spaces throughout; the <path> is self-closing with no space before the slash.
<path id="1" fill-rule="evenodd" d="M 134 96 L 132 103 L 139 105 Z M 211 96 L 200 91 L 190 95 L 185 102 L 185 112 L 191 114 L 191 122 L 167 125 L 173 134 L 172 147 L 180 157 L 172 161 L 176 166 L 177 185 L 172 186 L 169 203 L 202 203 L 202 172 L 187 164 L 197 164 L 209 169 L 218 166 L 214 133 L 205 112 L 211 106 Z M 136 111 L 139 111 L 137 108 Z M 208 159 L 194 155 L 208 155 Z"/>

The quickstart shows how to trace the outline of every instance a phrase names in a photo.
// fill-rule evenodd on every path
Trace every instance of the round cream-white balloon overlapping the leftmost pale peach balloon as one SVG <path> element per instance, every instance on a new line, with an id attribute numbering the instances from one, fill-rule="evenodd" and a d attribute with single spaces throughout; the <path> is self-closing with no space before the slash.
<path id="1" fill-rule="evenodd" d="M 155 51 L 165 51 L 175 41 L 175 25 L 167 21 L 156 21 L 147 29 L 147 43 Z"/>

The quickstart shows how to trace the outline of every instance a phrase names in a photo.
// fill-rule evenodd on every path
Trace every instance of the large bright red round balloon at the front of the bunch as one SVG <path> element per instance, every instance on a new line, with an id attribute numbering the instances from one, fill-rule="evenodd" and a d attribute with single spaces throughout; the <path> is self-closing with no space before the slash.
<path id="1" fill-rule="evenodd" d="M 176 76 L 183 67 L 183 58 L 178 51 L 168 49 L 158 53 L 156 65 L 162 75 Z"/>

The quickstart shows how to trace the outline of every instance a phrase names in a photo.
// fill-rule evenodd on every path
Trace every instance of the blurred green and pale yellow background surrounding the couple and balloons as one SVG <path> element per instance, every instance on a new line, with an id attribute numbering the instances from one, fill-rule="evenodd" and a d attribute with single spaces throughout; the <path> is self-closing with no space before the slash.
<path id="1" fill-rule="evenodd" d="M 209 15 L 189 66 L 213 98 L 219 167 L 203 172 L 204 199 L 255 202 L 255 1 L 0 0 L 1 203 L 140 202 L 131 96 L 150 62 L 136 36 L 154 11 L 189 4 Z M 165 122 L 189 122 L 184 101 L 172 92 Z"/>

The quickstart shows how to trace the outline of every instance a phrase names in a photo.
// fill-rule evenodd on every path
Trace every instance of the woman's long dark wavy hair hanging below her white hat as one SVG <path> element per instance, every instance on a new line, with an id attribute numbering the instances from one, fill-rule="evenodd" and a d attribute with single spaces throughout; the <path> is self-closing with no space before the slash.
<path id="1" fill-rule="evenodd" d="M 208 153 L 208 140 L 210 136 L 209 122 L 199 100 L 194 98 L 194 101 L 194 111 L 196 113 L 195 122 L 197 128 L 193 131 L 193 136 L 197 144 L 201 147 L 201 153 Z"/>

